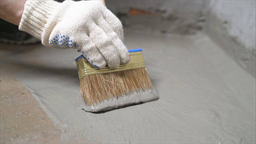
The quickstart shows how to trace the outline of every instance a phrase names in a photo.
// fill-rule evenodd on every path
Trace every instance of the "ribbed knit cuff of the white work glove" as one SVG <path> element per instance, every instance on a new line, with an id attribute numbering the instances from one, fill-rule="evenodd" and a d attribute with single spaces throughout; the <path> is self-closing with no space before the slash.
<path id="1" fill-rule="evenodd" d="M 43 42 L 45 40 L 42 36 L 43 32 L 53 28 L 55 25 L 50 23 L 50 19 L 53 18 L 59 4 L 53 0 L 27 0 L 24 5 L 19 30 L 26 31 Z"/>

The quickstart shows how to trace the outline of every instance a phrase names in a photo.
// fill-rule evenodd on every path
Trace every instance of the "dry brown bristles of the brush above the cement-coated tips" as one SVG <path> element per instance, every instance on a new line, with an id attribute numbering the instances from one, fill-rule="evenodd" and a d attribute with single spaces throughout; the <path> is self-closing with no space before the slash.
<path id="1" fill-rule="evenodd" d="M 87 106 L 154 90 L 145 68 L 85 76 L 80 79 L 80 87 Z"/>

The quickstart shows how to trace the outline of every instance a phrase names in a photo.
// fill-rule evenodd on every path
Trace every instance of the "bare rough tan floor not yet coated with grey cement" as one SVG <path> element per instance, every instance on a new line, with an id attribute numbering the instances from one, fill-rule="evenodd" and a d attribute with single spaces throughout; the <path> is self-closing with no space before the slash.
<path id="1" fill-rule="evenodd" d="M 2 63 L 8 55 L 1 50 L 0 143 L 60 143 L 60 130 L 14 77 L 23 67 Z"/>

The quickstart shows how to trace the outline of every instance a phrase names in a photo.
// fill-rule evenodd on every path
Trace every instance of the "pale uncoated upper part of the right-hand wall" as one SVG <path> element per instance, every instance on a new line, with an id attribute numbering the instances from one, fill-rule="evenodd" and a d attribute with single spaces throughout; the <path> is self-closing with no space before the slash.
<path id="1" fill-rule="evenodd" d="M 256 40 L 255 5 L 256 1 L 254 0 L 210 1 L 208 5 L 208 13 L 215 14 L 228 29 L 228 34 L 237 38 L 237 41 L 254 54 Z M 210 20 L 209 23 L 212 22 Z"/>

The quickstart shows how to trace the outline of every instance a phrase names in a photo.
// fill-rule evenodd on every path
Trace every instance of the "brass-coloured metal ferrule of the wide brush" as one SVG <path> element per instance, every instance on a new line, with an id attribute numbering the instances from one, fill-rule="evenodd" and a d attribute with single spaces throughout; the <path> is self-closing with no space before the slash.
<path id="1" fill-rule="evenodd" d="M 82 57 L 76 61 L 79 79 L 82 79 L 84 76 L 88 75 L 145 68 L 142 51 L 132 52 L 130 55 L 131 58 L 129 63 L 126 65 L 120 65 L 118 69 L 110 69 L 108 66 L 105 66 L 103 69 L 96 69 L 87 61 L 86 58 Z"/>

